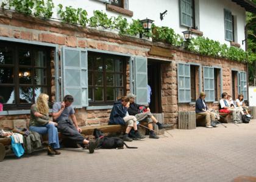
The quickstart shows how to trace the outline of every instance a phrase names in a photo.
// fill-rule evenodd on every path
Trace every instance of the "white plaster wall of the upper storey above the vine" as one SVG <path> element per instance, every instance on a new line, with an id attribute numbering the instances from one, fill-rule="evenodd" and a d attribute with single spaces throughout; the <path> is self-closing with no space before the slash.
<path id="1" fill-rule="evenodd" d="M 3 0 L 0 0 L 0 3 Z M 102 10 L 106 12 L 108 16 L 118 16 L 118 13 L 110 12 L 106 10 L 106 6 L 103 2 L 95 0 L 53 0 L 55 4 L 54 18 L 58 18 L 57 7 L 58 4 L 62 4 L 63 7 L 71 5 L 75 8 L 83 8 L 87 10 L 88 16 L 93 15 L 93 10 Z M 237 5 L 231 0 L 195 0 L 196 4 L 196 26 L 204 33 L 205 37 L 214 39 L 230 45 L 229 41 L 225 41 L 224 36 L 224 8 L 230 10 L 232 15 L 236 16 L 237 27 L 235 33 L 235 42 L 242 45 L 244 39 L 244 26 L 245 22 L 245 10 L 240 5 Z M 131 19 L 153 19 L 158 26 L 168 26 L 174 29 L 176 33 L 182 35 L 182 31 L 187 30 L 187 27 L 180 26 L 179 19 L 179 0 L 129 0 L 129 10 L 133 11 L 133 17 L 125 16 L 129 21 Z M 160 21 L 160 13 L 168 10 L 163 21 Z"/>

